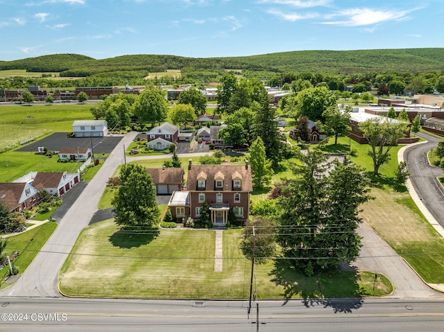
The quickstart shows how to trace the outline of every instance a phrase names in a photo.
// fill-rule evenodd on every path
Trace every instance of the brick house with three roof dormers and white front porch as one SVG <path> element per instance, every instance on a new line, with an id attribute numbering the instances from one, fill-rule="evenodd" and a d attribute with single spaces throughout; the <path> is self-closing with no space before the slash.
<path id="1" fill-rule="evenodd" d="M 230 210 L 237 219 L 247 219 L 250 209 L 251 166 L 188 165 L 187 191 L 191 218 L 199 219 L 203 203 L 210 203 L 213 225 L 228 223 Z"/>

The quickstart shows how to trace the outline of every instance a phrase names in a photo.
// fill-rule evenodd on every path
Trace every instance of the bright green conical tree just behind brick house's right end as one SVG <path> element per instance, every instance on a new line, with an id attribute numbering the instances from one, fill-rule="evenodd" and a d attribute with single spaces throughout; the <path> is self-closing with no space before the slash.
<path id="1" fill-rule="evenodd" d="M 253 144 L 251 144 L 248 152 L 250 152 L 253 187 L 262 189 L 264 183 L 270 183 L 274 172 L 273 168 L 271 168 L 271 161 L 266 159 L 264 141 L 262 141 L 261 137 L 257 137 Z"/>

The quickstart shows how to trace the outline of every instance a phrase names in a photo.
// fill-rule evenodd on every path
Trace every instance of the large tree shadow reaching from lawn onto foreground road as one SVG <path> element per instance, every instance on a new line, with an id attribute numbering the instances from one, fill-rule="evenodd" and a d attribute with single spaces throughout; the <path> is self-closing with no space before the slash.
<path id="1" fill-rule="evenodd" d="M 287 301 L 293 297 L 302 297 L 307 308 L 315 305 L 331 306 L 334 313 L 352 313 L 361 308 L 364 299 L 360 294 L 355 270 L 340 271 L 336 268 L 306 277 L 285 261 L 276 261 L 270 272 L 271 281 L 284 288 Z"/>

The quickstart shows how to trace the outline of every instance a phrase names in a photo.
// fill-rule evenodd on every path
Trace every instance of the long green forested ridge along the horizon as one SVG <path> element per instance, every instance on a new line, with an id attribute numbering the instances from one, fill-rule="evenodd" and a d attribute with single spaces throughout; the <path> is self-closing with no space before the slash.
<path id="1" fill-rule="evenodd" d="M 122 55 L 96 60 L 78 54 L 42 55 L 0 61 L 0 70 L 60 72 L 60 76 L 93 76 L 118 71 L 141 75 L 167 69 L 243 69 L 352 74 L 366 71 L 444 71 L 444 48 L 373 49 L 355 51 L 289 51 L 225 58 L 186 58 L 176 55 Z"/>

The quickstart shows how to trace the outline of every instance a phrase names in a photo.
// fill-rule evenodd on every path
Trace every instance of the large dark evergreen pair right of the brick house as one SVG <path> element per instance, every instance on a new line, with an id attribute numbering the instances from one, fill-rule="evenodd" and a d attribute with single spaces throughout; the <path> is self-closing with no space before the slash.
<path id="1" fill-rule="evenodd" d="M 317 149 L 297 157 L 296 177 L 282 186 L 284 195 L 278 198 L 278 239 L 293 266 L 312 275 L 359 255 L 358 208 L 370 198 L 369 182 L 348 159 L 327 163 Z"/>

